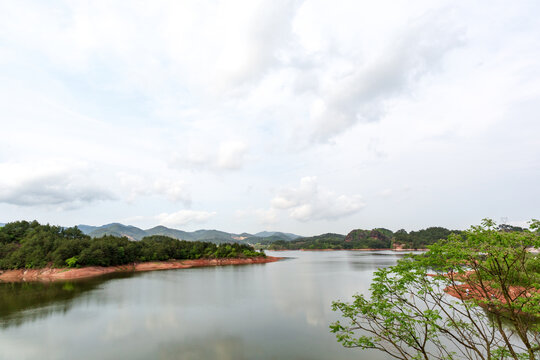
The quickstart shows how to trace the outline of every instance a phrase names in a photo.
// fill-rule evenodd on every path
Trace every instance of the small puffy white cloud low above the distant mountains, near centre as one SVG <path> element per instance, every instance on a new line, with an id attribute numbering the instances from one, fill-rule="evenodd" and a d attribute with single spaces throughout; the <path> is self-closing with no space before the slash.
<path id="1" fill-rule="evenodd" d="M 337 195 L 320 187 L 316 177 L 304 177 L 297 188 L 284 188 L 271 201 L 272 208 L 289 211 L 299 221 L 337 220 L 360 211 L 360 196 Z"/>

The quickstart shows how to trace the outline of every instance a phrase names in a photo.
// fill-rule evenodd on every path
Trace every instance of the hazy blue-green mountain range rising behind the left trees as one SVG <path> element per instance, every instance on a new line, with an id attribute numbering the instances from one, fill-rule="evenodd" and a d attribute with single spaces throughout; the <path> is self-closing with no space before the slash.
<path id="1" fill-rule="evenodd" d="M 256 234 L 241 233 L 233 234 L 219 230 L 197 230 L 182 231 L 171 229 L 165 226 L 156 226 L 151 229 L 143 230 L 136 226 L 112 223 L 103 226 L 77 225 L 85 234 L 91 237 L 101 237 L 104 235 L 125 236 L 131 240 L 141 240 L 145 236 L 165 235 L 175 239 L 188 241 L 208 241 L 214 243 L 222 242 L 242 242 L 257 243 L 261 240 L 284 240 L 291 241 L 299 238 L 299 235 L 291 233 L 282 233 L 278 231 L 262 231 Z"/>

